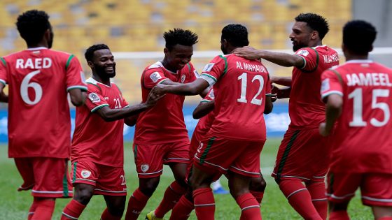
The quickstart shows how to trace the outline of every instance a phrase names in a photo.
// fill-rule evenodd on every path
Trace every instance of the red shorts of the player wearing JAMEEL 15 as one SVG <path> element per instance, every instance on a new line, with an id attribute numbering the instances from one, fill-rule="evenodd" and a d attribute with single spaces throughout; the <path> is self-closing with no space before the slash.
<path id="1" fill-rule="evenodd" d="M 386 173 L 328 173 L 328 200 L 348 202 L 360 187 L 363 205 L 392 207 L 392 175 Z"/>

